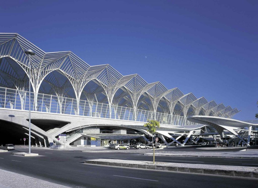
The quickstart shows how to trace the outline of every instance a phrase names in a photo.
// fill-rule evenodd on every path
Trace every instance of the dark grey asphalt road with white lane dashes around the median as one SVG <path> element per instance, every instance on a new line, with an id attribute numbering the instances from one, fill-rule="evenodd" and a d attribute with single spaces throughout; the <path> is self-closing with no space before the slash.
<path id="1" fill-rule="evenodd" d="M 26 149 L 22 149 L 26 152 Z M 166 172 L 156 170 L 119 168 L 101 165 L 86 165 L 84 160 L 96 158 L 149 160 L 151 156 L 139 153 L 86 153 L 79 151 L 32 150 L 38 157 L 11 155 L 14 151 L 0 153 L 0 168 L 11 172 L 39 178 L 45 181 L 70 187 L 257 187 L 258 180 L 228 176 L 203 175 L 192 173 Z M 209 161 L 211 159 L 212 161 Z M 222 162 L 218 162 L 218 160 Z M 166 160 L 166 161 L 165 161 Z M 222 165 L 240 166 L 240 163 L 258 164 L 258 160 L 247 162 L 223 158 L 187 158 L 157 156 L 156 161 L 179 163 L 207 162 Z M 217 161 L 215 161 L 217 160 Z M 180 162 L 181 161 L 181 162 Z M 247 165 L 250 166 L 250 165 Z M 137 179 L 141 178 L 141 179 Z"/>

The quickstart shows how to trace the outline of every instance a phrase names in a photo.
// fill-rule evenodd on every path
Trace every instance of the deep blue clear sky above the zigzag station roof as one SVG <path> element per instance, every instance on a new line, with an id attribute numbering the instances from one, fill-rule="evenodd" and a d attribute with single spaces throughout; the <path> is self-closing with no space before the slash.
<path id="1" fill-rule="evenodd" d="M 258 113 L 258 1 L 2 1 L 0 32 L 45 52 Z M 147 58 L 145 58 L 147 56 Z"/>

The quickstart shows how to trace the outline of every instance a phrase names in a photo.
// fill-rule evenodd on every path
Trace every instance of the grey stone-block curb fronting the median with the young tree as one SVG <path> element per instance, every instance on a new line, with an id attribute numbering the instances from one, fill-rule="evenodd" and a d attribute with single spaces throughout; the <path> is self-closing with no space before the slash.
<path id="1" fill-rule="evenodd" d="M 160 166 L 160 165 L 140 165 L 140 164 L 115 163 L 115 162 L 94 161 L 94 160 L 85 160 L 84 163 L 93 164 L 93 165 L 141 168 L 141 169 L 151 169 L 151 170 L 165 170 L 165 171 L 173 171 L 173 172 L 189 172 L 189 173 L 200 173 L 200 174 L 215 174 L 215 175 L 225 175 L 225 176 L 235 176 L 235 177 L 258 178 L 258 172 L 247 172 L 247 171 L 237 171 L 237 170 L 186 168 L 186 167 L 173 167 L 173 166 Z"/>

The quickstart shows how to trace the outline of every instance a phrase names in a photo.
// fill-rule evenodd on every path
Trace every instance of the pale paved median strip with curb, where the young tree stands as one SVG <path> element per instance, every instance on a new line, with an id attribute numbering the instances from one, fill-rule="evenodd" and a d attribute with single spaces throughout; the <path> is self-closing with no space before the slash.
<path id="1" fill-rule="evenodd" d="M 205 165 L 189 163 L 166 163 L 151 161 L 134 161 L 121 159 L 92 159 L 85 160 L 85 164 L 106 165 L 115 167 L 140 168 L 151 170 L 165 170 L 173 172 L 188 172 L 200 174 L 227 175 L 236 177 L 258 178 L 257 167 L 225 166 L 225 165 Z"/>

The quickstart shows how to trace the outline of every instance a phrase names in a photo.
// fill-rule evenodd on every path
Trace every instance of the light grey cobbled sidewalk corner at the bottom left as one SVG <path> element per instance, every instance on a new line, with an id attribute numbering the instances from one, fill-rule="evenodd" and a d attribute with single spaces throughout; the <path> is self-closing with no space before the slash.
<path id="1" fill-rule="evenodd" d="M 6 170 L 0 169 L 0 187 L 2 188 L 69 188 L 67 186 L 47 182 L 37 178 L 25 176 L 22 174 L 9 172 Z"/>

